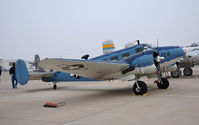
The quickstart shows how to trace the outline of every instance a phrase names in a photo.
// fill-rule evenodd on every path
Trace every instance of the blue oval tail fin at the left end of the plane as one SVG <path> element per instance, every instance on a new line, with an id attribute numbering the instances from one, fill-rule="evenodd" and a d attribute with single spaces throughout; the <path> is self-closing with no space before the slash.
<path id="1" fill-rule="evenodd" d="M 16 79 L 21 85 L 27 84 L 29 80 L 29 72 L 25 62 L 22 59 L 18 59 L 15 65 Z"/>

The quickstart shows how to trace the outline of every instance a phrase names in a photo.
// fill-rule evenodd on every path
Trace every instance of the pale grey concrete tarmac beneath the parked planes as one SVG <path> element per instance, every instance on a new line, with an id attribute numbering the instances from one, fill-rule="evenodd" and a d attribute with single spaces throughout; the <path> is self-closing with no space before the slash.
<path id="1" fill-rule="evenodd" d="M 160 90 L 155 79 L 143 78 L 147 96 L 133 96 L 131 82 L 30 81 L 12 89 L 10 76 L 0 82 L 0 125 L 198 125 L 199 67 L 193 76 L 169 79 Z M 57 108 L 45 102 L 63 102 Z"/>

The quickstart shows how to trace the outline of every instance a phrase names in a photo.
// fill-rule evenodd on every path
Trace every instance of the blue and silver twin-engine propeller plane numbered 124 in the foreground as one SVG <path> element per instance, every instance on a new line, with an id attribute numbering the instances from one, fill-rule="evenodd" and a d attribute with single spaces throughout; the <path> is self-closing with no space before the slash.
<path id="1" fill-rule="evenodd" d="M 106 45 L 104 49 L 113 49 L 114 45 Z M 157 76 L 159 89 L 167 89 L 169 81 L 162 77 L 162 72 L 174 71 L 175 66 L 184 55 L 182 48 L 167 46 L 152 48 L 149 44 L 138 44 L 129 48 L 114 51 L 95 58 L 85 60 L 47 58 L 38 65 L 44 69 L 59 72 L 31 74 L 28 72 L 23 60 L 16 62 L 16 77 L 20 84 L 25 85 L 28 80 L 42 79 L 45 82 L 60 81 L 104 81 L 104 80 L 135 80 L 133 92 L 143 95 L 147 92 L 147 85 L 140 77 Z M 75 74 L 75 75 L 74 75 Z"/>

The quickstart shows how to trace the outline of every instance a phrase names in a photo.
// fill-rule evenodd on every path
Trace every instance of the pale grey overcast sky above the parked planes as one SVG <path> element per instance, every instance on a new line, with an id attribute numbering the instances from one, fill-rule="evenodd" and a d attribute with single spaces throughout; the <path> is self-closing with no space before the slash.
<path id="1" fill-rule="evenodd" d="M 33 60 L 102 54 L 144 43 L 199 43 L 199 0 L 0 0 L 0 58 Z"/>

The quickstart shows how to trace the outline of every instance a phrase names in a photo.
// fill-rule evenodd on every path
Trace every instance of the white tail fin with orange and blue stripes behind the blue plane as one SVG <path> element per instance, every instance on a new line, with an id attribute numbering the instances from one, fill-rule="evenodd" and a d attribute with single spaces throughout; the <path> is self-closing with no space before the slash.
<path id="1" fill-rule="evenodd" d="M 103 42 L 103 53 L 108 54 L 115 51 L 115 46 L 112 40 L 106 40 Z"/>

